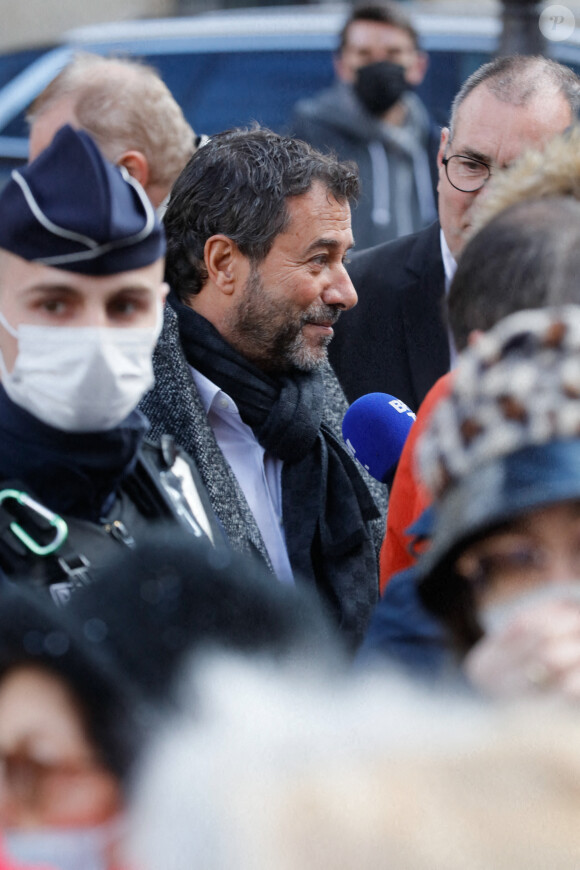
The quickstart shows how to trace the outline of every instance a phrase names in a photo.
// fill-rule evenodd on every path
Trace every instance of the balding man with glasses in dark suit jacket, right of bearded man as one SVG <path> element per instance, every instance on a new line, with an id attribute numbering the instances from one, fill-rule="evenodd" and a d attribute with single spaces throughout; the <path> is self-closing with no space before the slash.
<path id="1" fill-rule="evenodd" d="M 352 259 L 358 305 L 329 350 L 349 401 L 386 392 L 417 410 L 453 367 L 445 299 L 474 206 L 494 172 L 563 132 L 579 104 L 580 79 L 543 57 L 500 58 L 467 79 L 441 131 L 439 221 Z"/>

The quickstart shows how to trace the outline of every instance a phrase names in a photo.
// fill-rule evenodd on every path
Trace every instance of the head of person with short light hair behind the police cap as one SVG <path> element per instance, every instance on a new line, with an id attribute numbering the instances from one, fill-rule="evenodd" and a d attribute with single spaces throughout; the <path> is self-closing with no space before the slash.
<path id="1" fill-rule="evenodd" d="M 65 124 L 86 130 L 155 208 L 195 151 L 195 133 L 159 74 L 128 58 L 76 55 L 38 95 L 27 120 L 30 160 Z"/>

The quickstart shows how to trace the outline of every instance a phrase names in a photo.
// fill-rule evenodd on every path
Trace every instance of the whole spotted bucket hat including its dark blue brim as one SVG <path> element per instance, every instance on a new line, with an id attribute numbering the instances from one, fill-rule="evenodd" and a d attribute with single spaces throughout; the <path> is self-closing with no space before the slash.
<path id="1" fill-rule="evenodd" d="M 434 506 L 420 576 L 493 525 L 580 499 L 580 306 L 518 312 L 467 348 L 417 459 Z"/>

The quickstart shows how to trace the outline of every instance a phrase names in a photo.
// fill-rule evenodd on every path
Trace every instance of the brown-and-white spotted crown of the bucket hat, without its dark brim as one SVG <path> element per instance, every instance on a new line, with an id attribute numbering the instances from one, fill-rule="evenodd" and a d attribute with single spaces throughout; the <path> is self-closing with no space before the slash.
<path id="1" fill-rule="evenodd" d="M 531 445 L 580 438 L 580 306 L 520 311 L 460 357 L 418 445 L 435 499 L 474 469 Z"/>

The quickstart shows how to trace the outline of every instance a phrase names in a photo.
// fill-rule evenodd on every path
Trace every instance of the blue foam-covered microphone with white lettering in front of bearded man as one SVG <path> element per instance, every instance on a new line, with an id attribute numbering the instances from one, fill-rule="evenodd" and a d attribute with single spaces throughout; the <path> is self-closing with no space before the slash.
<path id="1" fill-rule="evenodd" d="M 352 403 L 342 435 L 352 456 L 381 483 L 391 483 L 415 414 L 388 393 L 367 393 Z"/>

